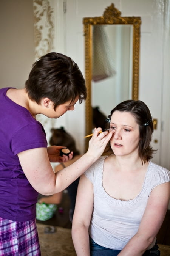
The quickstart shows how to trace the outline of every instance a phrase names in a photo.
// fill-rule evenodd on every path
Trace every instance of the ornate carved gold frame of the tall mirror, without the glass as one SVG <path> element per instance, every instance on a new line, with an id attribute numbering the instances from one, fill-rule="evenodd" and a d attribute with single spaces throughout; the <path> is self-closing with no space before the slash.
<path id="1" fill-rule="evenodd" d="M 87 100 L 85 105 L 85 133 L 92 131 L 91 108 L 91 79 L 92 79 L 92 30 L 93 25 L 124 24 L 133 25 L 133 74 L 132 74 L 132 99 L 138 100 L 139 85 L 139 46 L 140 46 L 140 17 L 121 17 L 121 12 L 112 3 L 105 8 L 102 16 L 83 18 L 85 34 L 85 80 L 87 86 Z M 88 149 L 89 138 L 85 139 L 85 151 Z"/>

